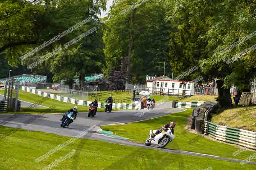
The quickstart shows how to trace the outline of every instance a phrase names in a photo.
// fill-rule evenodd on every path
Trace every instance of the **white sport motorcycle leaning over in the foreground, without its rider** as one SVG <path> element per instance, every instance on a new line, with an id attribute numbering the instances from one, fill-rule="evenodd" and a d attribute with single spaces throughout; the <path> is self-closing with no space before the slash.
<path id="1" fill-rule="evenodd" d="M 145 145 L 155 145 L 159 148 L 164 148 L 167 144 L 169 144 L 174 139 L 174 133 L 172 134 L 172 131 L 170 128 L 164 133 L 159 133 L 155 137 L 153 137 L 153 133 L 156 133 L 157 130 L 150 130 L 149 131 L 149 137 L 145 142 Z"/>

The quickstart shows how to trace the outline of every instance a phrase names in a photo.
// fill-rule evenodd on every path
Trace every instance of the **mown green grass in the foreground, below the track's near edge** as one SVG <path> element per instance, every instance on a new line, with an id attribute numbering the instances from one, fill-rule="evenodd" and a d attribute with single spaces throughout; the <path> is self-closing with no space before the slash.
<path id="1" fill-rule="evenodd" d="M 0 145 L 1 170 L 43 169 L 72 152 L 73 149 L 77 153 L 52 167 L 52 170 L 203 170 L 208 167 L 220 170 L 255 169 L 255 165 L 241 166 L 239 162 L 167 153 L 87 139 L 77 139 L 48 158 L 35 162 L 35 159 L 59 144 L 67 142 L 71 137 L 3 126 L 0 126 L 0 134 L 10 134 L 2 139 Z"/>

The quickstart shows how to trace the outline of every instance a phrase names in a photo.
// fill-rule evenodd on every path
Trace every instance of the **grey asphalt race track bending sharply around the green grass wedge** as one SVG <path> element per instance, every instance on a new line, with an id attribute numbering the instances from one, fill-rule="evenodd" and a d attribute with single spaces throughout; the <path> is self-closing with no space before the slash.
<path id="1" fill-rule="evenodd" d="M 122 110 L 122 111 L 114 111 L 111 113 L 98 112 L 95 115 L 95 117 L 87 117 L 88 113 L 78 113 L 76 120 L 73 123 L 71 123 L 69 127 L 66 127 L 66 128 L 60 127 L 60 119 L 62 118 L 63 114 L 33 114 L 33 115 L 32 114 L 19 114 L 19 115 L 0 114 L 0 125 L 3 125 L 2 122 L 4 121 L 4 126 L 8 126 L 8 127 L 15 127 L 15 128 L 21 127 L 22 129 L 27 129 L 27 130 L 43 131 L 43 132 L 53 133 L 61 136 L 75 137 L 79 133 L 84 132 L 85 129 L 88 129 L 92 126 L 99 127 L 102 125 L 109 125 L 109 124 L 137 122 L 137 121 L 156 118 L 156 117 L 160 117 L 168 114 L 175 114 L 185 110 L 183 108 L 170 109 L 170 107 L 171 107 L 170 103 L 167 102 L 167 103 L 156 105 L 156 108 L 153 110 L 146 110 L 146 109 Z M 79 106 L 78 106 L 78 111 L 79 111 Z M 134 115 L 141 115 L 141 117 L 134 116 Z M 132 141 L 127 141 L 127 140 L 99 134 L 93 130 L 86 133 L 83 136 L 83 138 L 100 140 L 100 141 L 105 141 L 109 143 L 118 143 L 118 144 L 128 145 L 128 146 L 151 148 L 151 149 L 156 149 L 156 150 L 161 150 L 161 151 L 171 152 L 171 153 L 208 157 L 208 158 L 214 158 L 214 159 L 220 159 L 220 160 L 228 160 L 232 162 L 242 161 L 238 159 L 221 158 L 214 155 L 172 150 L 168 148 L 161 149 L 158 147 L 146 146 L 145 144 L 135 143 Z M 249 163 L 256 165 L 256 162 L 249 162 Z"/>

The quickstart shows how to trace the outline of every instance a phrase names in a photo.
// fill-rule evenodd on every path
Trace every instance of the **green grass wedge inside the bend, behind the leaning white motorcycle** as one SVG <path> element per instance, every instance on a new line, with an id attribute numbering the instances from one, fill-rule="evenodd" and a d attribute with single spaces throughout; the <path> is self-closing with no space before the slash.
<path id="1" fill-rule="evenodd" d="M 187 125 L 187 117 L 191 115 L 192 110 L 193 108 L 189 108 L 180 113 L 166 115 L 147 121 L 130 123 L 126 125 L 103 126 L 101 128 L 114 133 L 116 132 L 119 136 L 134 139 L 133 141 L 144 143 L 148 138 L 150 129 L 160 129 L 164 124 L 176 122 L 175 139 L 167 145 L 167 148 L 234 159 L 246 159 L 250 154 L 253 153 L 251 151 L 245 151 L 237 156 L 234 156 L 233 153 L 239 150 L 238 147 L 212 141 L 206 137 L 198 138 L 195 143 L 191 144 L 190 141 L 196 138 L 197 135 L 194 133 L 185 133 L 182 135 L 182 132 L 185 131 L 184 127 Z"/>

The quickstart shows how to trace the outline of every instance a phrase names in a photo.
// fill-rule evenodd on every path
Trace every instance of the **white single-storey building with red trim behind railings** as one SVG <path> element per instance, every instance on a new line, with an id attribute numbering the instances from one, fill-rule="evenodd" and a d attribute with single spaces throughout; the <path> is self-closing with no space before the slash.
<path id="1" fill-rule="evenodd" d="M 146 80 L 146 89 L 153 93 L 162 92 L 164 94 L 191 96 L 195 94 L 194 82 L 182 84 L 180 80 L 173 80 L 167 76 Z"/>

